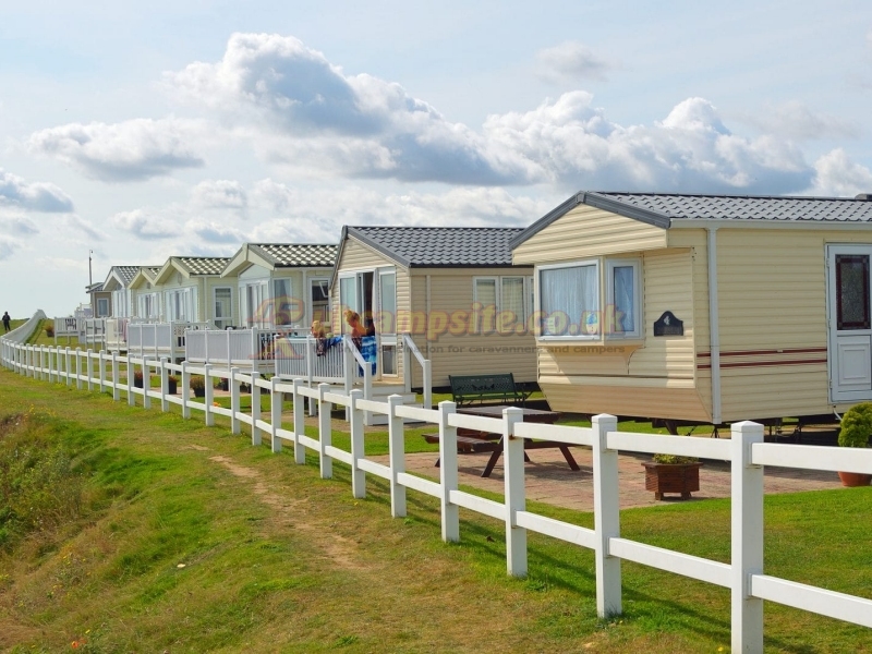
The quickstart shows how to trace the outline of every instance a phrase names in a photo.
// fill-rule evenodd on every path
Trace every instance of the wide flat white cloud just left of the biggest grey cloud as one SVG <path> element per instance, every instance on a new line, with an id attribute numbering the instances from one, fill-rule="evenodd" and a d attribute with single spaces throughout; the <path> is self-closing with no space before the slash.
<path id="1" fill-rule="evenodd" d="M 202 130 L 197 121 L 174 118 L 70 123 L 35 132 L 27 144 L 101 181 L 140 181 L 202 167 L 191 145 Z"/>

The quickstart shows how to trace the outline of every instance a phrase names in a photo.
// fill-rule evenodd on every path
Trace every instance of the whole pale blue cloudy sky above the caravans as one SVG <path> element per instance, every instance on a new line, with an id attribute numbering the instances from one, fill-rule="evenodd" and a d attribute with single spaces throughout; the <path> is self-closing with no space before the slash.
<path id="1" fill-rule="evenodd" d="M 872 4 L 0 0 L 0 311 L 112 265 L 526 226 L 579 190 L 872 192 Z M 142 3 L 140 3 L 142 4 Z"/>

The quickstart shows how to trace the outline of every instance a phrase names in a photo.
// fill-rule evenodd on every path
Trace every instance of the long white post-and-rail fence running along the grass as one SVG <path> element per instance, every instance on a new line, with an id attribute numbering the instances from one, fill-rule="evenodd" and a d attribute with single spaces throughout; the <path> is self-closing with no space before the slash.
<path id="1" fill-rule="evenodd" d="M 192 410 L 202 411 L 207 425 L 216 415 L 230 419 L 234 434 L 245 424 L 251 431 L 252 445 L 261 445 L 263 435 L 274 452 L 283 444 L 293 447 L 296 463 L 305 462 L 306 448 L 319 458 L 320 476 L 332 476 L 332 462 L 341 461 L 351 468 L 351 491 L 355 498 L 366 496 L 366 475 L 385 479 L 390 484 L 391 514 L 407 513 L 407 492 L 415 491 L 438 498 L 441 512 L 441 536 L 446 542 L 460 540 L 459 509 L 465 508 L 506 525 L 506 566 L 508 573 L 523 577 L 528 572 L 526 535 L 545 534 L 566 543 L 594 550 L 596 576 L 596 606 L 601 617 L 621 613 L 621 560 L 635 561 L 723 586 L 731 593 L 731 644 L 734 652 L 763 651 L 763 601 L 777 602 L 811 613 L 872 628 L 872 600 L 837 593 L 825 589 L 771 577 L 763 571 L 763 467 L 778 465 L 807 470 L 872 472 L 872 450 L 840 449 L 834 447 L 800 446 L 763 443 L 763 426 L 752 422 L 734 424 L 730 439 L 702 439 L 677 436 L 656 436 L 619 432 L 614 415 L 596 415 L 592 427 L 570 427 L 522 422 L 522 411 L 511 408 L 502 419 L 463 415 L 456 412 L 453 402 L 440 402 L 438 409 L 422 409 L 402 404 L 400 396 L 387 402 L 363 399 L 359 389 L 349 395 L 330 392 L 328 384 L 317 388 L 306 387 L 302 379 L 292 383 L 278 377 L 261 378 L 257 372 L 243 374 L 202 367 L 183 362 L 170 363 L 120 356 L 117 352 L 83 352 L 81 350 L 22 346 L 13 339 L 2 339 L 2 361 L 7 367 L 47 382 L 75 384 L 77 388 L 111 392 L 116 400 L 126 393 L 128 403 L 136 398 L 150 408 L 153 401 L 162 411 L 170 404 L 181 405 L 182 415 L 190 417 Z M 125 364 L 125 379 L 120 366 Z M 144 388 L 133 386 L 133 371 L 143 372 Z M 181 396 L 168 393 L 168 376 L 181 377 Z M 187 398 L 190 377 L 207 377 L 206 397 L 203 401 Z M 152 376 L 160 378 L 160 388 L 150 388 Z M 211 380 L 229 379 L 230 409 L 215 405 Z M 250 413 L 241 410 L 241 384 L 265 388 L 271 395 L 270 415 L 261 414 L 259 402 L 252 402 Z M 255 391 L 256 392 L 256 391 Z M 290 428 L 282 422 L 281 403 L 284 396 L 293 399 L 293 421 Z M 318 404 L 318 438 L 305 435 L 303 398 Z M 347 407 L 351 413 L 351 448 L 342 450 L 332 445 L 330 410 L 334 404 Z M 364 455 L 363 416 L 365 412 L 388 416 L 389 462 L 383 464 L 366 459 Z M 405 472 L 403 419 L 431 423 L 439 432 L 439 481 L 431 481 Z M 505 443 L 505 497 L 502 501 L 485 499 L 460 491 L 458 487 L 457 429 L 502 434 Z M 586 529 L 547 518 L 526 510 L 524 489 L 525 438 L 547 439 L 593 449 L 594 529 Z M 654 547 L 622 538 L 618 507 L 618 452 L 664 452 L 731 462 L 731 556 L 724 564 Z M 850 517 L 846 516 L 846 519 Z"/>

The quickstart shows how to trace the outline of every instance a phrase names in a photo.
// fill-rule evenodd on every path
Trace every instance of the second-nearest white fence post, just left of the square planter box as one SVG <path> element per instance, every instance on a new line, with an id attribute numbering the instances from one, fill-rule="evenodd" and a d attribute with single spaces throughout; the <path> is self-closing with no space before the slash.
<path id="1" fill-rule="evenodd" d="M 620 615 L 620 559 L 608 554 L 609 538 L 620 536 L 620 502 L 618 501 L 618 451 L 608 449 L 606 436 L 618 431 L 618 419 L 607 413 L 591 421 L 593 443 L 593 507 L 596 531 L 596 614 L 601 618 Z"/>

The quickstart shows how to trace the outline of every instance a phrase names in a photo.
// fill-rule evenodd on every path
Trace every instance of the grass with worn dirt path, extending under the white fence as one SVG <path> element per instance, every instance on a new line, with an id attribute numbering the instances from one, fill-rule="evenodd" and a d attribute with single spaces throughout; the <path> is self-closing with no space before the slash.
<path id="1" fill-rule="evenodd" d="M 4 651 L 729 650 L 723 589 L 625 565 L 626 613 L 601 621 L 585 550 L 531 536 L 530 578 L 508 579 L 501 523 L 463 511 L 446 545 L 435 500 L 410 492 L 393 520 L 386 485 L 355 500 L 342 464 L 324 481 L 314 457 L 294 465 L 222 424 L 8 371 L 0 407 Z M 728 501 L 621 519 L 728 560 Z M 768 497 L 766 571 L 872 597 L 869 524 L 872 488 Z M 766 634 L 768 652 L 872 652 L 870 630 L 772 605 Z"/>

